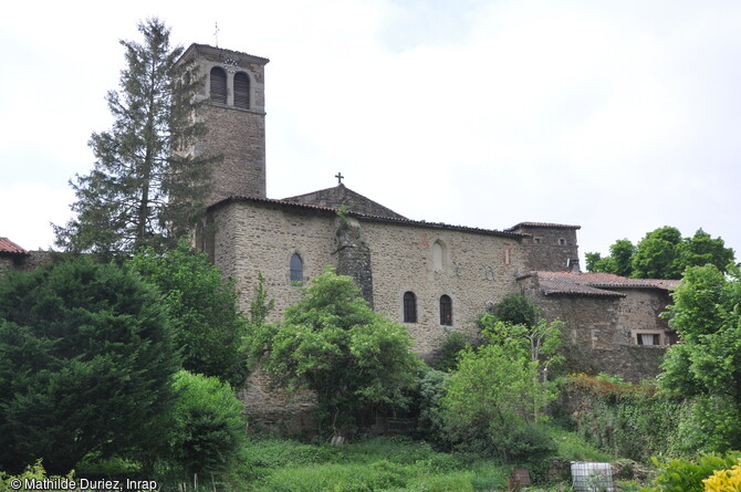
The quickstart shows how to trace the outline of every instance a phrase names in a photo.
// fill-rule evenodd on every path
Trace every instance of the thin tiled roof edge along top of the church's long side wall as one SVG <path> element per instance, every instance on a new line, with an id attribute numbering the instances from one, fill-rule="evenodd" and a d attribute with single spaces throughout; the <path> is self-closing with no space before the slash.
<path id="1" fill-rule="evenodd" d="M 234 202 L 251 202 L 251 203 L 272 203 L 282 208 L 288 208 L 288 209 L 294 209 L 294 210 L 306 210 L 306 211 L 316 211 L 316 212 L 323 212 L 323 213 L 330 213 L 330 214 L 336 214 L 340 211 L 340 208 L 333 208 L 333 207 L 325 207 L 325 206 L 320 206 L 320 205 L 311 205 L 311 203 L 296 203 L 293 201 L 286 201 L 286 200 L 275 200 L 272 198 L 255 198 L 255 197 L 242 197 L 242 196 L 231 196 L 229 198 L 225 198 L 220 201 L 217 201 L 216 203 L 210 205 L 207 210 L 213 210 L 220 207 L 223 207 L 228 203 L 234 203 Z M 513 238 L 513 239 L 522 239 L 522 238 L 528 238 L 529 234 L 521 234 L 519 232 L 509 232 L 509 231 L 498 231 L 494 229 L 480 229 L 480 228 L 472 228 L 472 227 L 467 227 L 467 226 L 451 226 L 448 223 L 442 223 L 442 222 L 427 222 L 424 220 L 410 220 L 406 219 L 404 217 L 396 218 L 396 217 L 387 217 L 387 216 L 375 216 L 370 213 L 363 213 L 363 212 L 357 212 L 355 210 L 348 210 L 347 214 L 351 217 L 355 217 L 358 219 L 364 219 L 364 220 L 370 220 L 370 221 L 376 221 L 376 222 L 392 222 L 392 223 L 398 223 L 401 226 L 419 226 L 419 227 L 427 227 L 427 228 L 434 228 L 434 229 L 448 229 L 452 231 L 461 231 L 461 232 L 472 232 L 477 234 L 487 234 L 487 235 L 500 235 L 500 237 L 505 237 L 505 238 Z"/>

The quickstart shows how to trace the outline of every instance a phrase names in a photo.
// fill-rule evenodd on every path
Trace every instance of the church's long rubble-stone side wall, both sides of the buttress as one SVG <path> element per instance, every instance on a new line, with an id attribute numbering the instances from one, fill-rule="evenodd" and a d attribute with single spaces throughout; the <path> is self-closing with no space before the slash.
<path id="1" fill-rule="evenodd" d="M 299 253 L 304 283 L 337 265 L 337 216 L 331 211 L 301 210 L 280 203 L 230 201 L 210 210 L 213 261 L 237 280 L 240 303 L 249 310 L 258 282 L 265 279 L 275 310 L 269 321 L 300 299 L 290 282 L 289 262 Z M 516 292 L 515 276 L 524 270 L 519 238 L 442 228 L 358 219 L 373 260 L 373 300 L 376 311 L 403 320 L 403 295 L 417 295 L 418 323 L 406 324 L 421 355 L 432 354 L 447 334 L 473 332 L 474 318 L 488 303 Z M 443 244 L 441 268 L 432 262 L 432 244 Z M 440 324 L 439 300 L 452 299 L 452 326 Z M 310 397 L 267 391 L 267 378 L 255 373 L 241 391 L 252 420 L 294 420 Z"/>

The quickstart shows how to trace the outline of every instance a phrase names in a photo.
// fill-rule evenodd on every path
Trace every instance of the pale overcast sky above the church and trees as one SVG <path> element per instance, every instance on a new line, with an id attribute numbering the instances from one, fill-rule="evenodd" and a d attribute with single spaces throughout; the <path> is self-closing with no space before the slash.
<path id="1" fill-rule="evenodd" d="M 23 4 L 21 4 L 23 3 Z M 703 228 L 741 255 L 741 2 L 36 1 L 0 15 L 0 237 L 53 243 L 119 39 L 270 59 L 268 197 L 345 185 L 417 220 Z"/>

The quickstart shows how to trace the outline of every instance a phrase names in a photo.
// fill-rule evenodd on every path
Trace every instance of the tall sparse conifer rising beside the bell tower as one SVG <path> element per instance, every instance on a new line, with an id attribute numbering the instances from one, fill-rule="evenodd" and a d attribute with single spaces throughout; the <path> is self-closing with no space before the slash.
<path id="1" fill-rule="evenodd" d="M 195 66 L 177 63 L 182 48 L 170 46 L 169 29 L 158 19 L 138 30 L 143 44 L 121 42 L 121 92 L 106 96 L 113 128 L 90 140 L 95 168 L 70 181 L 77 217 L 54 226 L 56 244 L 69 251 L 109 259 L 161 245 L 182 235 L 203 208 L 212 159 L 190 151 L 205 132 L 192 118 L 201 78 Z"/>

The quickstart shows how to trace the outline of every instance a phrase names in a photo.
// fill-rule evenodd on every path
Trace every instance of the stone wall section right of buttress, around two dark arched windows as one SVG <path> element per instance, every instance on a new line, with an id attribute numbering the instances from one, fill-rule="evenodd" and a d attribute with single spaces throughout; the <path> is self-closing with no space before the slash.
<path id="1" fill-rule="evenodd" d="M 375 308 L 401 322 L 404 293 L 417 297 L 418 323 L 407 323 L 424 356 L 438 349 L 450 331 L 472 334 L 489 303 L 518 290 L 524 270 L 519 239 L 459 230 L 361 220 L 373 254 Z M 443 247 L 440 269 L 432 244 Z M 452 299 L 452 326 L 440 324 L 440 296 Z"/>

